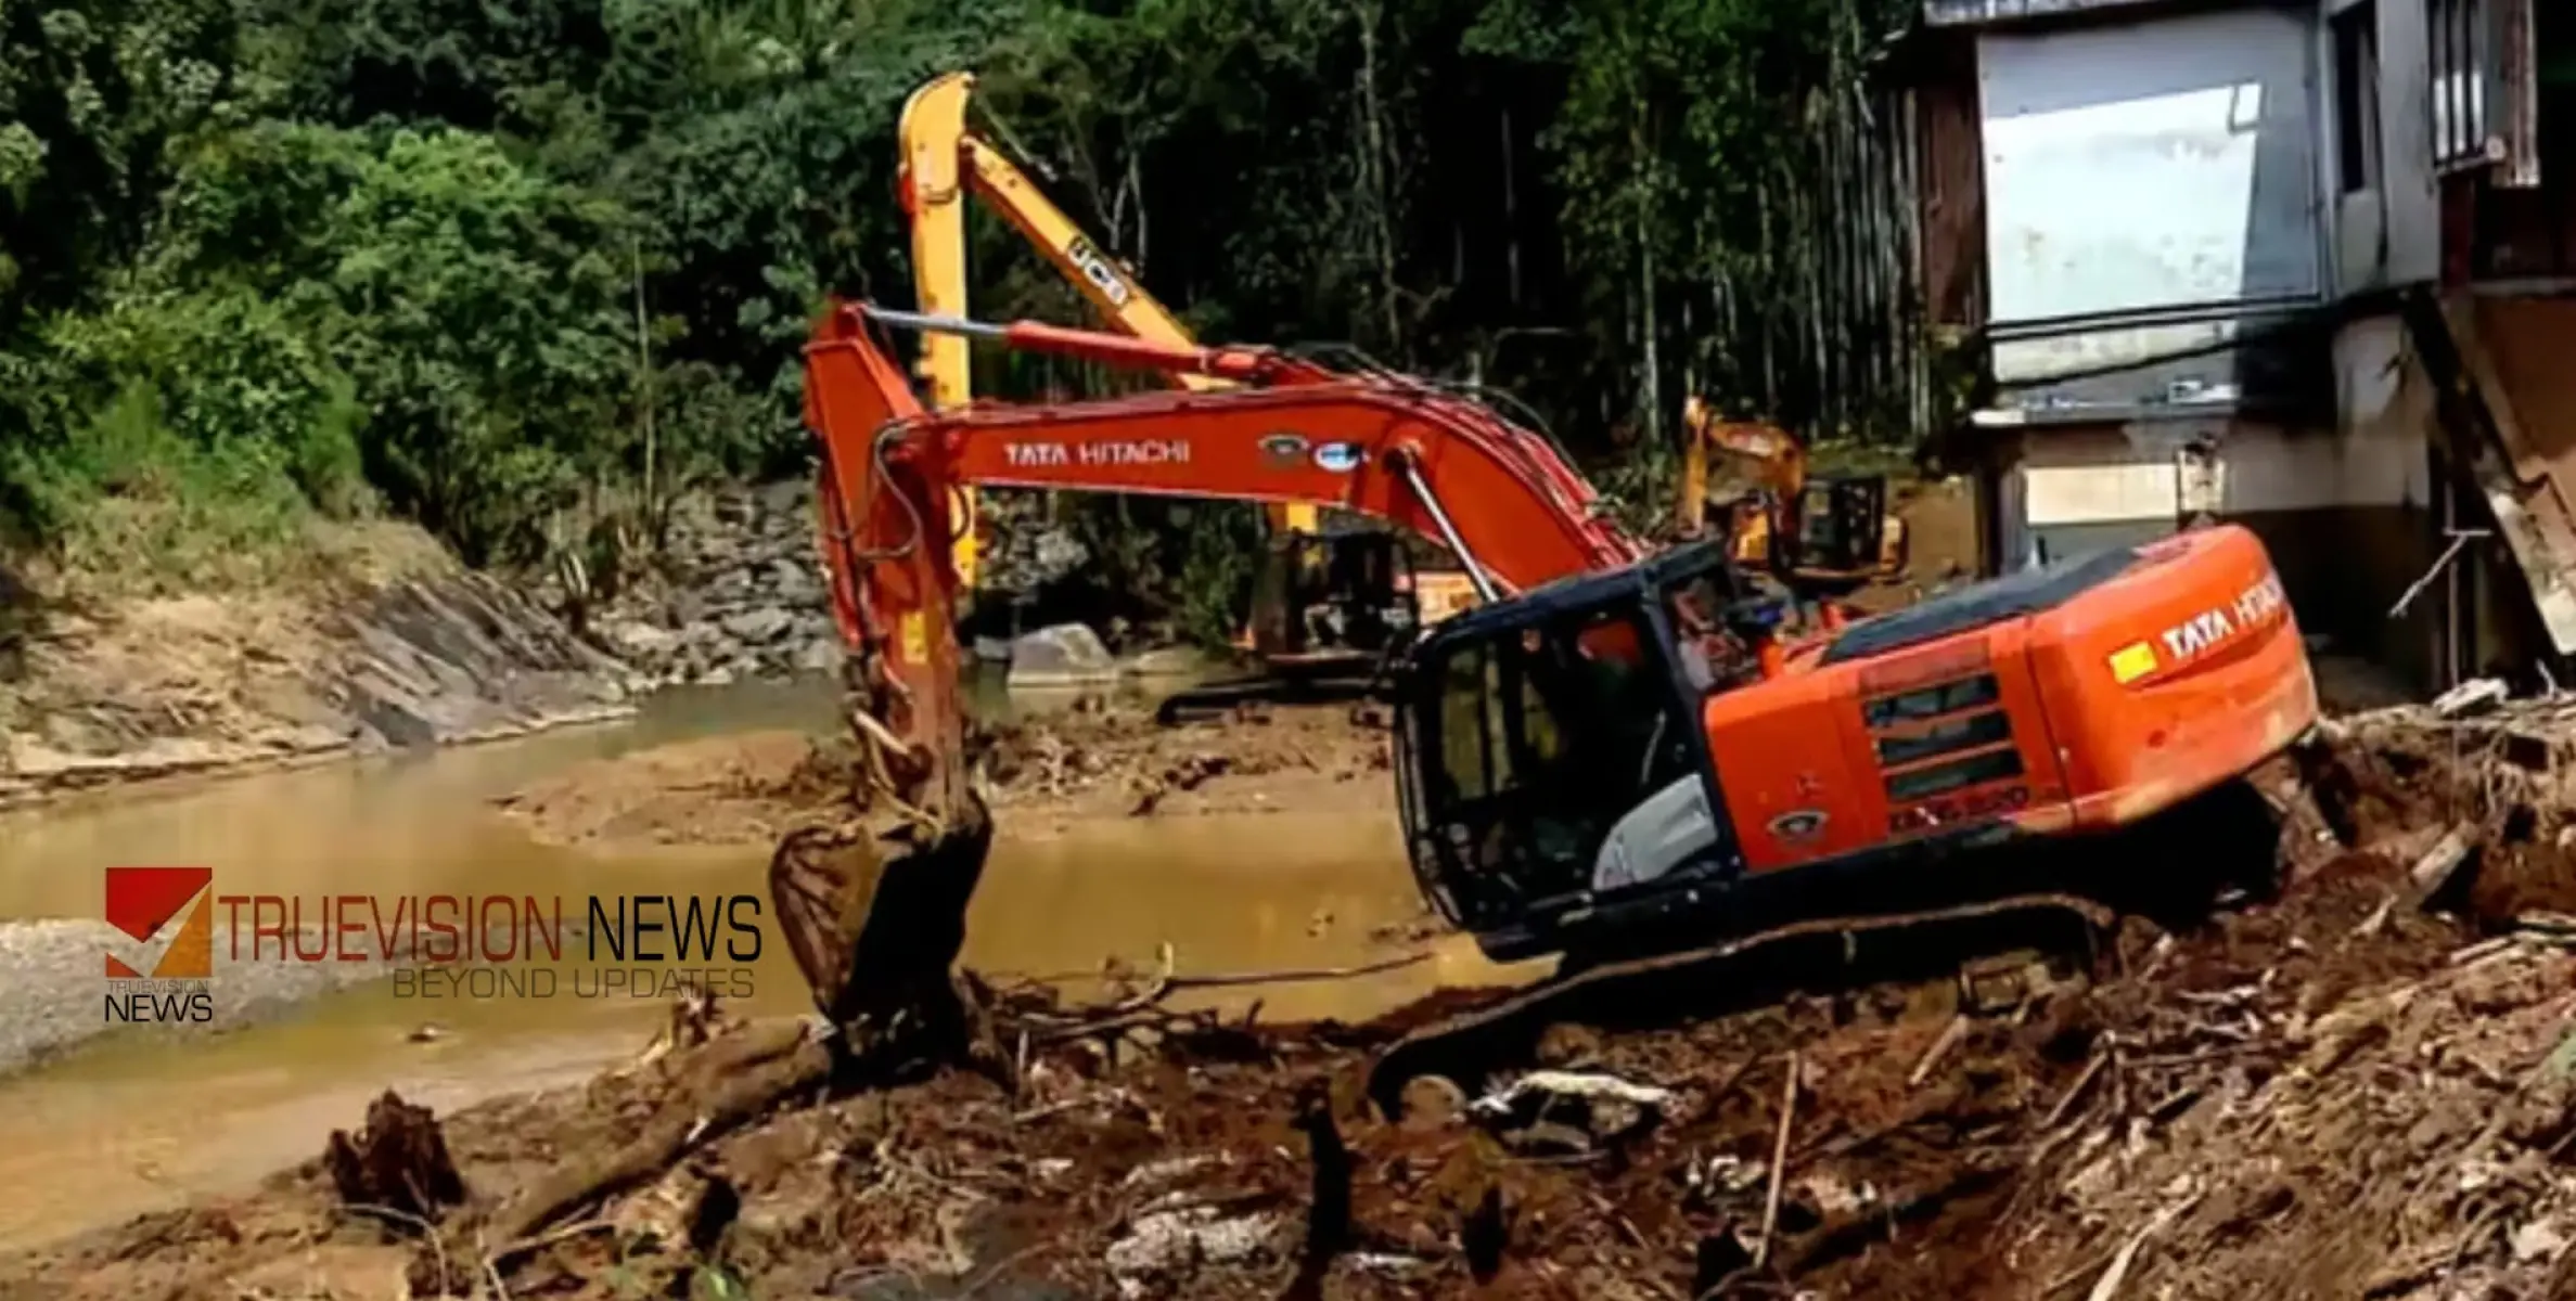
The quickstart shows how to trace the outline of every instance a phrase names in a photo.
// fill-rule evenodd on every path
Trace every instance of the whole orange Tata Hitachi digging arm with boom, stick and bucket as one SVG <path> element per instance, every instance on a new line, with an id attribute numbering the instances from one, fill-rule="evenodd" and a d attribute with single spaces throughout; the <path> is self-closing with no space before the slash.
<path id="1" fill-rule="evenodd" d="M 884 327 L 917 327 L 933 343 L 987 335 L 1229 389 L 927 410 Z M 938 987 L 989 842 L 966 770 L 953 631 L 958 489 L 1332 505 L 1440 541 L 1484 600 L 1643 556 L 1548 438 L 1425 381 L 1345 376 L 1260 348 L 837 304 L 806 345 L 806 423 L 822 443 L 824 562 L 850 647 L 863 796 L 891 827 L 873 840 L 791 840 L 770 866 L 796 961 L 835 1020 L 866 1010 L 866 989 L 884 1007 L 886 992 Z M 902 920 L 889 920 L 894 891 L 909 897 Z"/>

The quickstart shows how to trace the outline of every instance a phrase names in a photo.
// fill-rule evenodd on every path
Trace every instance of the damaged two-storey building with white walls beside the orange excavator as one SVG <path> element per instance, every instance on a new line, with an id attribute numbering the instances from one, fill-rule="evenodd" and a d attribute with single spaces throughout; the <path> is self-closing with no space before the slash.
<path id="1" fill-rule="evenodd" d="M 2012 572 L 2262 533 L 2329 693 L 2576 654 L 2576 5 L 1927 0 L 1924 325 Z"/>

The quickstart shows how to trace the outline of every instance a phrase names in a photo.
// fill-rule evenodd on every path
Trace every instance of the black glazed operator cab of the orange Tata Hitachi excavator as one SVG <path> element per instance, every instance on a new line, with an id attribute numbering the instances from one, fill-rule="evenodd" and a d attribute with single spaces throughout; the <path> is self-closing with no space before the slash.
<path id="1" fill-rule="evenodd" d="M 1759 680 L 1777 618 L 1708 541 L 1430 631 L 1396 685 L 1425 894 L 1510 958 L 1553 948 L 1597 897 L 1721 868 L 1700 706 Z"/>

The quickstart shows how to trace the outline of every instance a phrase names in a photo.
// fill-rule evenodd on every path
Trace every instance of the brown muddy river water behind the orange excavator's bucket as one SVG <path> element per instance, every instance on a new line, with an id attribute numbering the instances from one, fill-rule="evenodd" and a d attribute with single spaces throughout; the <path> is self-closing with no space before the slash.
<path id="1" fill-rule="evenodd" d="M 765 850 L 554 850 L 489 801 L 587 757 L 811 726 L 832 716 L 824 703 L 819 688 L 675 693 L 634 724 L 46 809 L 0 822 L 0 922 L 98 917 L 100 868 L 113 863 L 211 866 L 224 894 L 765 897 Z M 1110 956 L 1149 966 L 1170 943 L 1182 974 L 1345 966 L 1383 958 L 1373 933 L 1417 912 L 1376 809 L 1077 822 L 1038 837 L 1005 827 L 969 920 L 969 961 L 1054 976 Z M 804 1010 L 786 945 L 765 938 L 750 1010 Z M 1381 976 L 1200 1002 L 1363 1018 L 1437 984 L 1525 976 L 1481 964 L 1461 940 L 1432 953 Z M 0 979 L 95 987 L 95 953 L 70 958 L 62 971 Z M 229 1033 L 93 1038 L 0 1079 L 0 1247 L 250 1182 L 317 1154 L 384 1087 L 456 1108 L 580 1079 L 639 1051 L 662 1015 L 659 997 L 420 997 L 366 982 Z"/>

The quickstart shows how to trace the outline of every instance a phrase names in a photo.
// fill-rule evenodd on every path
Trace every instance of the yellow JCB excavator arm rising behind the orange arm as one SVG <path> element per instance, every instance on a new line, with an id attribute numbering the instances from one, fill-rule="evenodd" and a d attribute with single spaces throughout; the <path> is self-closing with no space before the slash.
<path id="1" fill-rule="evenodd" d="M 966 126 L 971 95 L 974 75 L 948 72 L 912 93 L 899 124 L 902 196 L 904 214 L 912 219 L 912 278 L 920 309 L 935 317 L 969 314 L 966 196 L 974 193 L 1002 214 L 1121 332 L 1146 343 L 1193 348 L 1195 340 L 1180 317 L 1146 294 L 1064 209 L 1048 201 L 1010 155 Z M 974 399 L 963 335 L 922 340 L 920 374 L 930 386 L 933 407 L 951 410 Z M 1177 371 L 1170 379 L 1193 392 L 1226 384 L 1198 371 Z M 971 487 L 958 489 L 958 505 L 963 518 L 974 520 Z M 1314 533 L 1316 528 L 1311 505 L 1273 505 L 1267 520 L 1273 533 Z M 958 580 L 971 587 L 976 575 L 974 531 L 958 533 L 956 567 Z"/>

